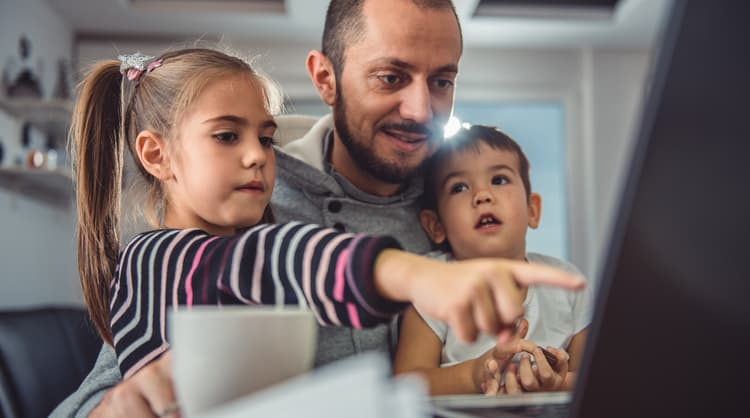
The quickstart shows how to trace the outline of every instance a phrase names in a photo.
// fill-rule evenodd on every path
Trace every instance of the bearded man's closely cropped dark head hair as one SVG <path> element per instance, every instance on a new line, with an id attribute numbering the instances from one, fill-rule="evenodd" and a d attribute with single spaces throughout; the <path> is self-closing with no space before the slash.
<path id="1" fill-rule="evenodd" d="M 331 60 L 336 78 L 344 71 L 344 53 L 346 46 L 362 38 L 365 22 L 362 19 L 362 8 L 366 0 L 331 0 L 328 4 L 325 26 L 323 27 L 323 54 Z M 406 0 L 404 0 L 406 1 Z M 463 45 L 461 22 L 451 0 L 409 0 L 417 7 L 425 9 L 448 9 L 453 12 L 458 24 L 458 33 Z"/>

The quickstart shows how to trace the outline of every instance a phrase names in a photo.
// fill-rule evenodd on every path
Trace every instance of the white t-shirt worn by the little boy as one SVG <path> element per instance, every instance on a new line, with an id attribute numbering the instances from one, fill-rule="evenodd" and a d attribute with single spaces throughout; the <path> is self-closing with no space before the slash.
<path id="1" fill-rule="evenodd" d="M 430 253 L 435 256 L 436 253 Z M 449 259 L 440 253 L 436 258 Z M 545 264 L 579 276 L 581 272 L 572 264 L 546 255 L 528 253 L 530 263 Z M 591 323 L 592 291 L 586 286 L 581 291 L 570 291 L 551 286 L 530 286 L 523 303 L 524 318 L 529 321 L 526 339 L 541 347 L 567 348 L 571 338 Z M 419 312 L 419 311 L 418 311 Z M 448 324 L 419 312 L 427 325 L 443 343 L 440 365 L 477 358 L 495 346 L 495 337 L 481 334 L 471 344 L 461 342 Z"/>

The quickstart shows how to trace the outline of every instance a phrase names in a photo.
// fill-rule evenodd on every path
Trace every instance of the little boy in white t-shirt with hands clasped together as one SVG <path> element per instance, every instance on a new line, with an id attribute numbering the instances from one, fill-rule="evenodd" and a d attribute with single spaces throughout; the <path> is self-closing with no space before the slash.
<path id="1" fill-rule="evenodd" d="M 436 257 L 506 257 L 581 275 L 562 260 L 526 252 L 526 230 L 539 225 L 541 197 L 531 192 L 521 147 L 495 128 L 474 125 L 446 140 L 426 163 L 424 199 L 420 222 L 442 250 L 432 253 Z M 409 309 L 394 373 L 422 374 L 432 395 L 571 390 L 590 322 L 591 291 L 524 290 L 520 338 L 505 342 L 481 335 L 466 344 L 445 323 Z"/>

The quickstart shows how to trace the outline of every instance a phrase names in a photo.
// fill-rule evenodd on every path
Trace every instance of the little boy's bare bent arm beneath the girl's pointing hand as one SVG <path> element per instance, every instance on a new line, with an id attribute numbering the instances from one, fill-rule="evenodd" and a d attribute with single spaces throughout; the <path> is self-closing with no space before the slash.
<path id="1" fill-rule="evenodd" d="M 404 313 L 393 373 L 418 372 L 429 384 L 431 395 L 479 392 L 474 361 L 440 367 L 443 344 L 414 308 Z"/>

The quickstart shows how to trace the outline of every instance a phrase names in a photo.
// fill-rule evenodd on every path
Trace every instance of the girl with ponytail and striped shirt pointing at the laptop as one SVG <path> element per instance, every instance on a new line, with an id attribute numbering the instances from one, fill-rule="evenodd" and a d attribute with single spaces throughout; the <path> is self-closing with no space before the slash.
<path id="1" fill-rule="evenodd" d="M 206 49 L 121 57 L 83 80 L 71 130 L 78 264 L 124 378 L 169 349 L 165 313 L 177 305 L 309 305 L 321 323 L 366 327 L 412 301 L 466 339 L 477 328 L 508 338 L 521 314 L 516 282 L 582 285 L 512 262 L 446 266 L 398 251 L 389 237 L 259 225 L 271 220 L 278 103 L 246 62 Z M 125 147 L 148 184 L 156 229 L 121 251 Z M 496 303 L 474 304 L 476 293 Z"/>

